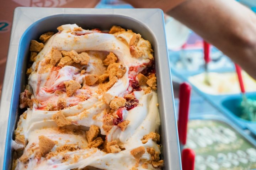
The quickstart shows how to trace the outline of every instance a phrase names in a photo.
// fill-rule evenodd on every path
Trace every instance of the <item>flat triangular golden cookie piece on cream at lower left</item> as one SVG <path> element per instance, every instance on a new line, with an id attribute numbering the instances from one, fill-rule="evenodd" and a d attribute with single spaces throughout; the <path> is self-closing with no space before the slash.
<path id="1" fill-rule="evenodd" d="M 55 146 L 55 142 L 50 140 L 46 136 L 38 136 L 39 139 L 39 150 L 42 156 L 50 152 L 50 150 Z"/>

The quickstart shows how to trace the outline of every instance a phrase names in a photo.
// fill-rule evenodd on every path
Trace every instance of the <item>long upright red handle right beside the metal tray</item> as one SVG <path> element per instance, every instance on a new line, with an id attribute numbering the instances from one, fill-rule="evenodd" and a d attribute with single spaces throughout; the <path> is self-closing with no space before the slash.
<path id="1" fill-rule="evenodd" d="M 178 114 L 178 135 L 180 142 L 185 145 L 187 141 L 188 111 L 190 106 L 191 86 L 188 83 L 180 85 L 180 104 Z"/>

